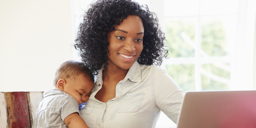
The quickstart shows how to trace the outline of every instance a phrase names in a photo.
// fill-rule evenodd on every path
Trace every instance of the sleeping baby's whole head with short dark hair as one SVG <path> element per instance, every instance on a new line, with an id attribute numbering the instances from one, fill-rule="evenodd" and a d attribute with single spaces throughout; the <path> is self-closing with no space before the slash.
<path id="1" fill-rule="evenodd" d="M 54 87 L 64 90 L 82 104 L 87 102 L 94 87 L 94 75 L 81 62 L 69 60 L 56 70 Z"/>

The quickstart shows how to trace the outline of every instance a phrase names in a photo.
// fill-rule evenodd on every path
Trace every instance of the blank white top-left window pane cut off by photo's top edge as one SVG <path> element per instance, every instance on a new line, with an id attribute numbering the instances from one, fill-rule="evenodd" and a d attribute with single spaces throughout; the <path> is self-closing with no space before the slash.
<path id="1" fill-rule="evenodd" d="M 165 0 L 165 16 L 191 16 L 199 14 L 199 0 Z"/>

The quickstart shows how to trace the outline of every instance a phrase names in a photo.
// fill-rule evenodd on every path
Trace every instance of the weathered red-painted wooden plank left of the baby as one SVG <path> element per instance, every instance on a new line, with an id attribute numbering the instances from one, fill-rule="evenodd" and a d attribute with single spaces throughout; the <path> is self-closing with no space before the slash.
<path id="1" fill-rule="evenodd" d="M 30 128 L 26 92 L 5 92 L 9 128 Z"/>

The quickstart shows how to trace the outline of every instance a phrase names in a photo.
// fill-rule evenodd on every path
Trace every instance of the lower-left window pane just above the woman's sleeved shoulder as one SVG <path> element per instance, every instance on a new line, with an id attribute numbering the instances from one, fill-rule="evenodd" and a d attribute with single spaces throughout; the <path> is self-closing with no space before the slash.
<path id="1" fill-rule="evenodd" d="M 194 64 L 174 64 L 166 65 L 166 72 L 180 86 L 181 90 L 195 90 L 195 70 Z"/>

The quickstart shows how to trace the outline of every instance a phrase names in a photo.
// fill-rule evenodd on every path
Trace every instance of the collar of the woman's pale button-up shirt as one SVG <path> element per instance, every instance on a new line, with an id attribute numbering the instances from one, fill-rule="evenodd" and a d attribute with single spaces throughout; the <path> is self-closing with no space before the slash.
<path id="1" fill-rule="evenodd" d="M 98 86 L 102 85 L 102 83 L 103 83 L 103 81 L 102 81 L 103 67 L 104 66 L 102 66 L 102 68 L 100 70 L 98 70 L 98 75 L 96 78 L 96 85 L 98 85 Z M 132 64 L 132 67 L 127 72 L 124 80 L 121 80 L 120 82 L 125 82 L 127 79 L 130 79 L 132 82 L 141 82 L 142 81 L 141 66 L 137 61 L 135 61 L 134 64 Z"/>

